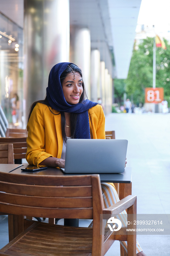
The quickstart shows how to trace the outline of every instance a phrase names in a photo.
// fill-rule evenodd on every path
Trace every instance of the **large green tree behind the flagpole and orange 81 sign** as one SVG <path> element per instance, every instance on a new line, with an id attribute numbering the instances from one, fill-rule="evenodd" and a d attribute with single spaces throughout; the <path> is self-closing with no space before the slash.
<path id="1" fill-rule="evenodd" d="M 170 105 L 170 45 L 164 39 L 166 48 L 156 48 L 156 87 L 164 88 L 164 98 Z M 125 90 L 134 103 L 144 103 L 144 89 L 152 87 L 153 81 L 153 38 L 147 37 L 135 45 Z"/>

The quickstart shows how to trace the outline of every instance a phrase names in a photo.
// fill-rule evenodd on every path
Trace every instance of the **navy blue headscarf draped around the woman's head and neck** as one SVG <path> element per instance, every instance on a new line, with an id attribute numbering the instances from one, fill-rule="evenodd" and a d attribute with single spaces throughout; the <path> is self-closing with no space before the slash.
<path id="1" fill-rule="evenodd" d="M 90 127 L 89 127 L 89 115 L 88 109 L 96 106 L 96 102 L 89 101 L 88 99 L 83 100 L 81 103 L 71 105 L 66 102 L 62 85 L 60 82 L 60 76 L 62 72 L 67 68 L 70 62 L 62 62 L 56 64 L 50 71 L 47 92 L 47 100 L 51 108 L 69 112 L 77 113 L 77 124 L 74 133 L 75 139 L 90 139 Z M 74 64 L 75 65 L 75 64 Z M 70 72 L 72 72 L 70 70 Z"/>

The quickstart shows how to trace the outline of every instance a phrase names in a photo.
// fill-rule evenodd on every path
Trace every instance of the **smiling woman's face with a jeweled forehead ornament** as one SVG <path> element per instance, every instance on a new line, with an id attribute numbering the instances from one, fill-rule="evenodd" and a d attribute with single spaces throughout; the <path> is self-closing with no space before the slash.
<path id="1" fill-rule="evenodd" d="M 77 104 L 83 92 L 83 81 L 80 74 L 75 72 L 75 77 L 76 79 L 74 80 L 74 74 L 70 72 L 62 83 L 63 94 L 69 104 Z"/>

